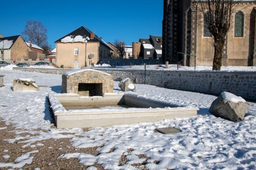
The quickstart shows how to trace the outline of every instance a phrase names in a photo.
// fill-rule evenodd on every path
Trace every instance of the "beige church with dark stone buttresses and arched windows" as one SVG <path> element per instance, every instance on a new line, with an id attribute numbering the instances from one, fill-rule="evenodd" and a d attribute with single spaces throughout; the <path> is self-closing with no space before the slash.
<path id="1" fill-rule="evenodd" d="M 163 61 L 176 63 L 177 52 L 183 52 L 196 55 L 197 66 L 212 66 L 213 37 L 204 27 L 199 7 L 194 0 L 164 0 Z M 255 14 L 256 0 L 239 2 L 231 17 L 231 27 L 222 53 L 222 66 L 256 66 Z M 186 66 L 194 66 L 195 63 L 194 57 L 183 58 L 182 55 L 179 61 L 183 61 Z"/>

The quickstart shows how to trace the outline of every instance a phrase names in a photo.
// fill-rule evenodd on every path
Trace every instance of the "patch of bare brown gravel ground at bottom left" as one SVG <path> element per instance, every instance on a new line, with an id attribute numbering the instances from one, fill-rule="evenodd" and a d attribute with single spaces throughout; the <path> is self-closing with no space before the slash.
<path id="1" fill-rule="evenodd" d="M 93 148 L 74 148 L 71 146 L 70 138 L 61 139 L 48 139 L 40 141 L 44 144 L 43 146 L 36 146 L 35 148 L 22 148 L 26 143 L 8 143 L 4 139 L 15 138 L 16 134 L 13 131 L 15 128 L 12 125 L 5 125 L 4 122 L 0 121 L 0 127 L 7 127 L 7 129 L 0 130 L 0 162 L 2 163 L 15 163 L 15 159 L 27 152 L 38 150 L 38 153 L 32 153 L 30 156 L 34 156 L 33 162 L 29 165 L 26 164 L 22 167 L 25 170 L 33 170 L 40 168 L 41 170 L 86 170 L 87 165 L 79 163 L 77 158 L 64 159 L 58 158 L 63 153 L 87 153 L 91 155 L 98 155 L 99 152 L 96 150 L 97 146 Z M 42 129 L 37 129 L 41 130 Z M 23 133 L 22 136 L 33 136 L 33 134 Z M 37 142 L 36 142 L 37 143 Z M 10 158 L 2 158 L 3 155 L 9 155 Z M 91 165 L 96 167 L 98 170 L 103 170 L 100 164 L 94 163 Z M 0 168 L 1 170 L 7 170 L 12 167 Z"/>

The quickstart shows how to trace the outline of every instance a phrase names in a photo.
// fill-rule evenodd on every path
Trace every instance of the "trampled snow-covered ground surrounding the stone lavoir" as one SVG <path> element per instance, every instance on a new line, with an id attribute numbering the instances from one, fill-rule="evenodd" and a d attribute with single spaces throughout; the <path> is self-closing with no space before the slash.
<path id="1" fill-rule="evenodd" d="M 60 93 L 61 75 L 16 70 L 0 70 L 0 74 L 5 75 L 5 86 L 0 88 L 0 117 L 6 124 L 12 123 L 20 128 L 15 129 L 16 137 L 8 141 L 13 143 L 24 139 L 24 148 L 35 147 L 38 143 L 40 145 L 40 141 L 49 138 L 72 138 L 72 146 L 76 148 L 103 145 L 97 148 L 100 154 L 94 156 L 85 153 L 65 153 L 60 155 L 60 158 L 77 158 L 85 165 L 97 162 L 108 169 L 116 169 L 122 156 L 128 161 L 121 166 L 128 169 L 132 169 L 129 165 L 144 161 L 145 166 L 153 170 L 256 169 L 255 103 L 249 103 L 250 108 L 244 121 L 231 122 L 216 118 L 208 112 L 211 102 L 216 99 L 215 96 L 136 84 L 137 92 L 144 97 L 199 107 L 198 116 L 153 123 L 95 127 L 87 132 L 77 128 L 53 129 L 47 95 Z M 43 87 L 39 92 L 13 92 L 12 81 L 16 78 L 31 78 Z M 114 82 L 114 92 L 120 92 L 118 83 Z M 181 133 L 164 135 L 154 132 L 154 129 L 164 127 L 175 127 L 181 130 Z M 38 135 L 24 137 L 20 136 L 21 131 Z M 147 158 L 139 156 L 141 154 Z M 24 155 L 17 155 L 17 160 L 31 163 L 33 157 L 30 153 Z M 7 157 L 5 156 L 6 159 Z M 6 165 L 0 163 L 0 168 Z M 11 165 L 13 168 L 18 166 L 16 163 Z M 22 164 L 19 164 L 18 168 L 22 168 Z"/>

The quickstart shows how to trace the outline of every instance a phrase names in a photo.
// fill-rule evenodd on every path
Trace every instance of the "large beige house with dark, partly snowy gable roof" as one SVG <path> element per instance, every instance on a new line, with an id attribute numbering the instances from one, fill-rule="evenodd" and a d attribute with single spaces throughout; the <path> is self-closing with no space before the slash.
<path id="1" fill-rule="evenodd" d="M 101 38 L 85 27 L 63 36 L 56 43 L 56 65 L 63 68 L 81 68 L 110 57 L 113 50 Z"/>

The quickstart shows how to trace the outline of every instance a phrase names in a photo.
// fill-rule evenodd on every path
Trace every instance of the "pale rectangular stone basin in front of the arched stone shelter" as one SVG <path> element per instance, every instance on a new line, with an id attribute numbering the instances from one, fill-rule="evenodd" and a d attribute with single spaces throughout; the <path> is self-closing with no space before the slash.
<path id="1" fill-rule="evenodd" d="M 179 107 L 137 94 L 49 95 L 57 128 L 85 128 L 154 122 L 196 116 L 198 108 Z"/>

